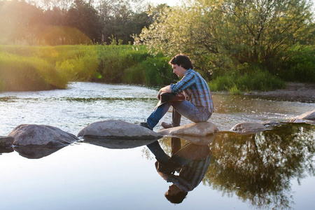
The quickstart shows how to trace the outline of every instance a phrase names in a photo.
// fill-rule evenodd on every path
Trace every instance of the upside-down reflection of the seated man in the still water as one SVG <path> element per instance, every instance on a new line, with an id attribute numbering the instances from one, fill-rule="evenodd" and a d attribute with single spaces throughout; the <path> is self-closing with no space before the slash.
<path id="1" fill-rule="evenodd" d="M 148 145 L 158 160 L 155 167 L 160 176 L 169 183 L 165 197 L 169 202 L 183 202 L 189 191 L 196 188 L 209 167 L 211 151 L 209 146 L 186 144 L 181 147 L 181 139 L 172 138 L 172 155 L 169 157 L 160 147 L 158 141 Z M 175 175 L 178 172 L 178 175 Z"/>

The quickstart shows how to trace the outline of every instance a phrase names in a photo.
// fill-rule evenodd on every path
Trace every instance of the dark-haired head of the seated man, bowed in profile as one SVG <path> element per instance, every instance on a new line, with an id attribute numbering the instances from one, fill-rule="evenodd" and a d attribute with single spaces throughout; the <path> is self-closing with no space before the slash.
<path id="1" fill-rule="evenodd" d="M 176 55 L 169 61 L 169 64 L 172 65 L 173 73 L 179 77 L 184 76 L 188 69 L 194 68 L 187 55 Z"/>

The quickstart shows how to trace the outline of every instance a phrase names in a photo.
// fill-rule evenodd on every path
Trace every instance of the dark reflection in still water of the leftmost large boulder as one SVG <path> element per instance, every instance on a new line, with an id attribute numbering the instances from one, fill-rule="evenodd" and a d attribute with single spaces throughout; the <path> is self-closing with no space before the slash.
<path id="1" fill-rule="evenodd" d="M 40 159 L 64 148 L 64 146 L 15 146 L 14 151 L 29 159 Z"/>

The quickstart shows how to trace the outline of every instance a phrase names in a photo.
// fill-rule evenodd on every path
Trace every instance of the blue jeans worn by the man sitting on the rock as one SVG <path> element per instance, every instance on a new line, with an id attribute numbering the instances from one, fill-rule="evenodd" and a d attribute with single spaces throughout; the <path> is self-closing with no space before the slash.
<path id="1" fill-rule="evenodd" d="M 211 113 L 209 113 L 207 109 L 197 107 L 186 100 L 182 102 L 168 102 L 158 106 L 153 113 L 151 113 L 151 116 L 146 120 L 148 126 L 153 128 L 155 125 L 158 125 L 160 119 L 167 113 L 171 106 L 173 106 L 172 118 L 175 126 L 179 126 L 181 123 L 181 116 L 184 116 L 195 123 L 206 122 L 211 117 Z"/>

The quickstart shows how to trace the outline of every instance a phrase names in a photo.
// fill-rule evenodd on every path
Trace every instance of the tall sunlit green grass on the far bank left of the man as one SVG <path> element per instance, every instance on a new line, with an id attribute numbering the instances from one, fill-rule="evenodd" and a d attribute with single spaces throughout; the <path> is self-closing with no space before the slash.
<path id="1" fill-rule="evenodd" d="M 166 85 L 169 58 L 132 45 L 0 45 L 0 91 L 65 88 L 69 81 Z"/>

